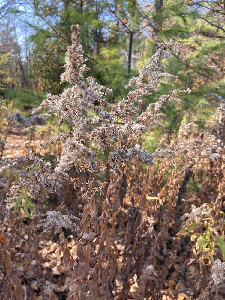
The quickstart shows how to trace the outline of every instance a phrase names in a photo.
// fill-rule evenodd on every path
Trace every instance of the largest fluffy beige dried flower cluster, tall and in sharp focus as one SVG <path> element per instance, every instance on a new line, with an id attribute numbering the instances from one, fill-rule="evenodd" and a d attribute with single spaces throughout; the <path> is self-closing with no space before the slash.
<path id="1" fill-rule="evenodd" d="M 101 149 L 110 149 L 124 135 L 130 135 L 134 132 L 139 134 L 145 132 L 144 124 L 135 120 L 134 115 L 140 112 L 143 97 L 150 95 L 149 89 L 157 89 L 158 81 L 161 78 L 176 77 L 163 73 L 164 67 L 161 61 L 163 58 L 168 57 L 168 48 L 182 45 L 172 43 L 161 45 L 158 52 L 150 59 L 148 66 L 143 67 L 139 76 L 132 78 L 127 85 L 128 88 L 136 81 L 136 89 L 130 91 L 127 99 L 119 101 L 116 104 L 116 108 L 113 108 L 113 111 L 109 113 L 104 107 L 109 106 L 107 96 L 112 95 L 112 90 L 99 85 L 92 77 L 87 79 L 89 86 L 82 80 L 83 72 L 89 69 L 83 58 L 82 46 L 79 44 L 79 26 L 73 25 L 71 29 L 73 30 L 73 44 L 67 48 L 66 70 L 61 75 L 61 82 L 70 82 L 72 87 L 66 88 L 59 96 L 49 94 L 48 99 L 44 100 L 33 111 L 33 114 L 38 113 L 42 108 L 50 108 L 58 115 L 59 124 L 68 117 L 72 119 L 72 131 L 68 132 L 68 134 L 62 133 L 60 136 L 52 138 L 46 144 L 41 145 L 41 148 L 43 148 L 49 143 L 55 143 L 57 140 L 68 137 L 64 143 L 63 153 L 58 158 L 55 173 L 63 173 L 74 164 L 82 165 L 90 172 L 95 173 L 98 170 L 98 165 L 96 163 L 96 155 L 90 149 L 90 146 L 95 142 L 96 146 L 101 147 Z M 145 77 L 151 79 L 149 83 L 143 81 Z M 180 102 L 180 100 L 176 99 L 176 93 L 180 92 L 190 92 L 190 90 L 174 90 L 169 95 L 162 96 L 159 102 L 155 104 L 155 107 L 158 107 L 157 110 L 164 104 L 171 105 L 172 102 Z M 98 102 L 100 106 L 95 105 L 94 101 Z M 138 106 L 136 106 L 136 103 Z M 150 107 L 152 106 L 150 105 Z M 88 112 L 88 117 L 83 117 L 82 114 L 86 116 L 86 112 Z M 118 120 L 121 118 L 124 120 L 120 122 L 120 125 Z M 152 122 L 157 123 L 157 121 L 153 120 Z M 112 169 L 118 171 L 116 167 L 118 161 L 128 161 L 137 157 L 140 157 L 142 161 L 149 165 L 153 164 L 151 154 L 141 150 L 138 145 L 132 149 L 118 149 L 118 147 L 115 147 L 114 152 L 111 152 Z"/>

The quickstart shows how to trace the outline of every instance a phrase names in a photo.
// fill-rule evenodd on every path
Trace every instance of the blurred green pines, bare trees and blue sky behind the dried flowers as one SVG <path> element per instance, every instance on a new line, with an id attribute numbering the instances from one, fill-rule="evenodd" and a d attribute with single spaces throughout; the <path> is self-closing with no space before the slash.
<path id="1" fill-rule="evenodd" d="M 182 122 L 210 126 L 215 107 L 205 95 L 224 93 L 222 1 L 3 1 L 0 9 L 0 91 L 16 109 L 26 111 L 46 93 L 63 91 L 58 81 L 70 45 L 70 25 L 78 23 L 91 76 L 112 88 L 117 100 L 125 97 L 128 79 L 138 74 L 158 43 L 184 43 L 179 53 L 170 49 L 165 61 L 165 70 L 179 81 L 161 83 L 153 100 L 172 87 L 191 88 L 192 93 L 183 96 L 182 111 L 167 113 L 163 134 L 170 143 Z M 149 144 L 157 147 L 160 134 L 149 137 L 155 138 Z"/>

